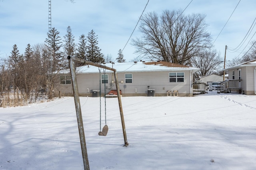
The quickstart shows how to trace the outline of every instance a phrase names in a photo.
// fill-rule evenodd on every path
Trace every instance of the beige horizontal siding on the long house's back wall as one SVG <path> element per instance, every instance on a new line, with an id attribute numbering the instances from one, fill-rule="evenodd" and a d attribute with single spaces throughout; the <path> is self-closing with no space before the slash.
<path id="1" fill-rule="evenodd" d="M 169 82 L 169 71 L 155 71 L 155 72 L 132 72 L 132 73 L 118 73 L 119 88 L 122 90 L 122 94 L 146 94 L 148 86 L 150 89 L 156 90 L 156 94 L 166 94 L 167 90 L 178 90 L 179 96 L 190 94 L 190 70 L 183 72 L 184 82 Z M 125 83 L 125 75 L 132 74 L 132 83 Z M 108 73 L 109 77 L 114 77 L 113 73 Z M 108 82 L 110 83 L 112 79 Z M 88 93 L 92 90 L 100 90 L 101 77 L 99 73 L 80 73 L 77 74 L 77 83 L 79 93 Z M 116 84 L 106 84 L 107 93 L 110 90 L 116 90 Z M 101 86 L 101 90 L 104 90 L 104 86 Z M 72 93 L 72 86 L 70 88 L 62 87 L 63 92 Z"/>

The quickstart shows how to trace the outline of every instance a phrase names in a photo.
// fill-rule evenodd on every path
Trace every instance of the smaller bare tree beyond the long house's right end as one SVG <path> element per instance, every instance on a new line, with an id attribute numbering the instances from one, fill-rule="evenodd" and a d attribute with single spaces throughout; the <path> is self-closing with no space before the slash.
<path id="1" fill-rule="evenodd" d="M 191 65 L 200 68 L 195 76 L 202 77 L 216 72 L 220 68 L 221 63 L 220 53 L 216 50 L 201 49 L 198 55 L 190 59 Z"/>

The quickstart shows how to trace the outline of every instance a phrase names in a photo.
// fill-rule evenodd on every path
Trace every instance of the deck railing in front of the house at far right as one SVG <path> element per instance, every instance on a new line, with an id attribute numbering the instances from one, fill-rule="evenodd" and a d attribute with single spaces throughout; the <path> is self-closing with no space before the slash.
<path id="1" fill-rule="evenodd" d="M 242 90 L 242 80 L 225 80 L 220 82 L 218 86 L 220 86 L 218 93 L 240 92 Z"/>

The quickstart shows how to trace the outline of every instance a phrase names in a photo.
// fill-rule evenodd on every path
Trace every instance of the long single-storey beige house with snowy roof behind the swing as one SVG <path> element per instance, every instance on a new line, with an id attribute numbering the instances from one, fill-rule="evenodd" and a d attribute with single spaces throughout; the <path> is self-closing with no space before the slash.
<path id="1" fill-rule="evenodd" d="M 167 91 L 178 90 L 178 96 L 192 96 L 193 74 L 199 68 L 180 64 L 159 62 L 138 63 L 107 63 L 102 64 L 116 69 L 118 84 L 122 96 L 147 96 L 148 90 L 154 90 L 155 96 L 166 96 Z M 86 65 L 76 68 L 76 78 L 80 96 L 92 96 L 92 90 L 106 93 L 116 90 L 114 73 L 98 67 Z M 55 95 L 60 92 L 63 96 L 72 96 L 72 86 L 69 70 L 60 72 L 60 84 L 55 84 Z M 101 84 L 100 84 L 101 83 Z"/>

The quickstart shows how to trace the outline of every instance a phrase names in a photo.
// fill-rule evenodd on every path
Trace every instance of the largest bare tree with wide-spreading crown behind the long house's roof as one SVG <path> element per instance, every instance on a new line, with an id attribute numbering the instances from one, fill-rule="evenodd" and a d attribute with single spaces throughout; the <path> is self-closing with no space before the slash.
<path id="1" fill-rule="evenodd" d="M 150 60 L 189 64 L 202 48 L 210 47 L 205 15 L 184 16 L 181 10 L 165 10 L 161 16 L 150 12 L 141 18 L 142 37 L 132 39 L 136 53 Z"/>

